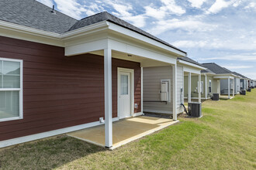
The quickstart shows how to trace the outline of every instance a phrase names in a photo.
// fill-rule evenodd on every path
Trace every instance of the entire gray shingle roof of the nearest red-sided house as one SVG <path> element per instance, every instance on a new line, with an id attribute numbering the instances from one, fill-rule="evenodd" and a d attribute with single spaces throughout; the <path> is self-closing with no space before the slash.
<path id="1" fill-rule="evenodd" d="M 52 9 L 50 7 L 43 5 L 40 2 L 36 2 L 36 0 L 0 1 L 0 20 L 5 22 L 12 22 L 21 26 L 29 26 L 34 29 L 41 29 L 47 32 L 64 33 L 89 26 L 97 22 L 109 21 L 185 53 L 168 42 L 158 39 L 157 37 L 150 35 L 150 33 L 125 22 L 108 12 L 101 12 L 78 21 L 61 12 L 57 12 L 56 10 L 55 14 L 51 11 Z"/>

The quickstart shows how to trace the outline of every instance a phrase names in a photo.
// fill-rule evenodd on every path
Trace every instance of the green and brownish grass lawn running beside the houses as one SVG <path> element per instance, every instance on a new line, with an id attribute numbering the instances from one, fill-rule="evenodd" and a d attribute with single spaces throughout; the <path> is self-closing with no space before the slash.
<path id="1" fill-rule="evenodd" d="M 0 151 L 0 167 L 256 169 L 256 89 L 202 107 L 202 118 L 179 117 L 179 124 L 114 151 L 61 136 Z"/>

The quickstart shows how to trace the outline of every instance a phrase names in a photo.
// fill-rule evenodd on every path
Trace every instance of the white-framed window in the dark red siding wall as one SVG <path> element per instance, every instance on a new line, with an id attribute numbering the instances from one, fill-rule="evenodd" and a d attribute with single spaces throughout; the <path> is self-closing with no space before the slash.
<path id="1" fill-rule="evenodd" d="M 0 58 L 0 121 L 22 118 L 22 60 Z"/>

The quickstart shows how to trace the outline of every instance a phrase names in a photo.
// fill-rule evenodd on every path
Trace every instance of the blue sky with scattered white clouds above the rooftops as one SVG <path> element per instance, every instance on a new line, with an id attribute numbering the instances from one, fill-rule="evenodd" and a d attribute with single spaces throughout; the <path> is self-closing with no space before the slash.
<path id="1" fill-rule="evenodd" d="M 256 0 L 37 0 L 75 19 L 107 11 L 188 53 L 256 80 Z"/>

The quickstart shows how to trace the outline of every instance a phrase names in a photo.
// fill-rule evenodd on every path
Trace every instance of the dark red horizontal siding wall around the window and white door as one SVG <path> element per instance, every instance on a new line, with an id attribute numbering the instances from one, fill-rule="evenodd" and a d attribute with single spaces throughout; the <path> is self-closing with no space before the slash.
<path id="1" fill-rule="evenodd" d="M 0 122 L 0 141 L 99 121 L 104 116 L 104 59 L 64 56 L 64 48 L 0 37 L 0 57 L 23 59 L 23 119 Z M 134 69 L 140 112 L 140 63 L 112 59 L 112 116 L 117 117 L 117 67 Z"/>

